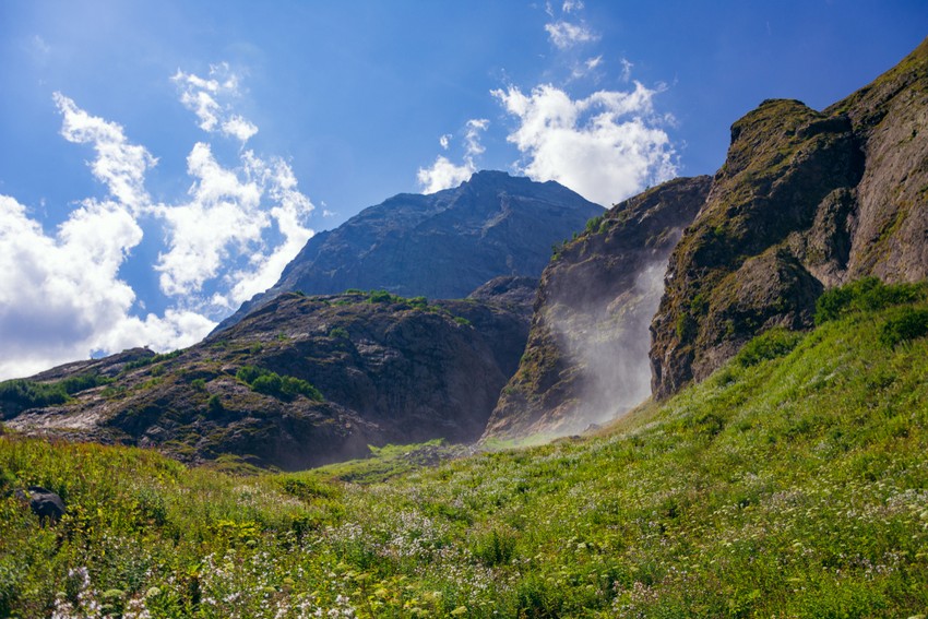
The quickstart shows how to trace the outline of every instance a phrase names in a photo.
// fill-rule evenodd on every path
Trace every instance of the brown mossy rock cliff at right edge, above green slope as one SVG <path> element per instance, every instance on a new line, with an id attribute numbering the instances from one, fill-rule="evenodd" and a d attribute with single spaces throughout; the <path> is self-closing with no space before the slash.
<path id="1" fill-rule="evenodd" d="M 675 249 L 652 325 L 653 390 L 702 380 L 775 325 L 809 326 L 831 286 L 928 276 L 928 41 L 816 111 L 768 100 Z"/>

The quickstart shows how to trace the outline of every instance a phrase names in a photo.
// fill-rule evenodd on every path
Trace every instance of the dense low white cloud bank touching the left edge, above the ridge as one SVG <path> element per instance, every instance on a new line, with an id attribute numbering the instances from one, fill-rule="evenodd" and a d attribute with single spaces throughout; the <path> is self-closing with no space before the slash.
<path id="1" fill-rule="evenodd" d="M 135 293 L 119 278 L 142 229 L 122 204 L 86 201 L 47 235 L 25 206 L 0 195 L 0 379 L 139 345 L 166 350 L 202 338 L 215 323 L 168 310 L 129 316 Z"/>

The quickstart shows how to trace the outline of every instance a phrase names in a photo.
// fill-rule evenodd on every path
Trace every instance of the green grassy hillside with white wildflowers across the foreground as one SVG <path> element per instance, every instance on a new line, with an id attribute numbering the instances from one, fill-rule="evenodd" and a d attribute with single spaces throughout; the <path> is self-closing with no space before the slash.
<path id="1" fill-rule="evenodd" d="M 0 495 L 70 514 L 0 500 L 0 616 L 924 616 L 923 296 L 845 289 L 602 436 L 437 466 L 237 477 L 8 436 Z"/>

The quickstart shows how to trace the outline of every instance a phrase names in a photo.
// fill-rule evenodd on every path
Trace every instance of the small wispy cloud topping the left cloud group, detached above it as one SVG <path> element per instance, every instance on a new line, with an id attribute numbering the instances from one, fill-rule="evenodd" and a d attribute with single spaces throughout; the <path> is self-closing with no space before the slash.
<path id="1" fill-rule="evenodd" d="M 258 133 L 258 127 L 233 114 L 231 105 L 225 103 L 241 94 L 238 75 L 231 71 L 228 63 L 211 66 L 209 78 L 185 73 L 178 69 L 171 81 L 180 88 L 180 103 L 197 115 L 203 131 L 218 131 L 242 144 Z"/>

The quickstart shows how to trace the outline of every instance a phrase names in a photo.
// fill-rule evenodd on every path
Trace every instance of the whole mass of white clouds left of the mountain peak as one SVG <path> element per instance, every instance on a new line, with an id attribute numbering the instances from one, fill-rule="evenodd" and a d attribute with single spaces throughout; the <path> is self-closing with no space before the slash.
<path id="1" fill-rule="evenodd" d="M 178 72 L 174 80 L 183 82 L 181 100 L 204 130 L 243 143 L 258 129 L 217 103 L 238 93 L 237 78 L 219 67 L 210 79 Z M 25 205 L 0 195 L 0 269 L 7 274 L 0 278 L 0 380 L 92 352 L 192 345 L 214 319 L 273 285 L 312 236 L 305 225 L 312 203 L 283 159 L 245 151 L 226 167 L 210 144 L 198 143 L 188 156 L 193 183 L 187 199 L 155 204 L 145 174 L 157 159 L 118 123 L 60 93 L 55 103 L 61 135 L 94 150 L 87 165 L 106 197 L 81 201 L 55 230 L 45 230 Z M 120 276 L 146 234 L 143 224 L 163 225 L 166 233 L 155 265 L 168 300 L 160 314 L 133 311 L 145 303 Z"/>

